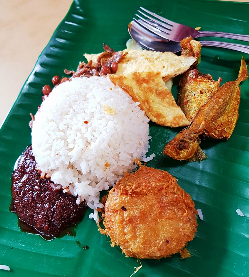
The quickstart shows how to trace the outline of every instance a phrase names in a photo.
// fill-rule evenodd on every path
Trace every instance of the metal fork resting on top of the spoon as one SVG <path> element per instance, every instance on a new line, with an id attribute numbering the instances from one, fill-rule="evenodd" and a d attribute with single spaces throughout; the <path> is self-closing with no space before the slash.
<path id="1" fill-rule="evenodd" d="M 211 31 L 198 31 L 192 27 L 168 20 L 162 16 L 159 16 L 153 12 L 150 12 L 149 10 L 146 10 L 143 7 L 140 7 L 140 9 L 146 12 L 147 14 L 138 10 L 138 12 L 142 14 L 145 18 L 140 16 L 139 14 L 136 14 L 136 16 L 140 18 L 140 20 L 133 18 L 134 21 L 136 21 L 144 28 L 148 29 L 152 33 L 155 33 L 156 35 L 164 39 L 168 39 L 174 42 L 180 42 L 181 40 L 183 40 L 188 36 L 191 36 L 192 38 L 220 37 L 220 38 L 232 38 L 236 40 L 244 40 L 249 42 L 249 35 L 239 35 L 239 34 L 233 34 L 233 33 L 211 32 Z M 149 16 L 148 14 L 150 14 L 151 16 Z"/>

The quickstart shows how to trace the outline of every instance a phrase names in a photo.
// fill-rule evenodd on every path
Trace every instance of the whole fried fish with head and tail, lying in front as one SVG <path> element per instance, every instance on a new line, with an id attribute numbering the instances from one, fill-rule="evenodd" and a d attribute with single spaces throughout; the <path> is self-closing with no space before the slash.
<path id="1" fill-rule="evenodd" d="M 176 160 L 188 160 L 198 148 L 200 136 L 229 139 L 239 116 L 239 84 L 247 77 L 247 66 L 243 58 L 237 80 L 226 82 L 213 91 L 191 124 L 165 145 L 163 154 Z"/>

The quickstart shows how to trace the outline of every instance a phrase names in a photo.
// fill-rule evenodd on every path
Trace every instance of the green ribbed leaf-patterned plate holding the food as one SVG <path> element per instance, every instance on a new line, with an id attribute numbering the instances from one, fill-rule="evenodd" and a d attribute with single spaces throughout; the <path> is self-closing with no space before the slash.
<path id="1" fill-rule="evenodd" d="M 42 86 L 52 85 L 54 75 L 65 76 L 63 70 L 75 70 L 83 53 L 99 53 L 106 43 L 114 50 L 123 50 L 130 38 L 129 22 L 137 9 L 148 10 L 173 21 L 202 30 L 224 31 L 249 35 L 249 3 L 223 1 L 73 1 L 68 14 L 55 30 L 38 57 L 21 92 L 0 130 L 0 276 L 120 276 L 129 277 L 137 259 L 127 258 L 118 246 L 101 235 L 94 220 L 86 212 L 75 227 L 75 237 L 66 235 L 46 241 L 39 235 L 24 233 L 17 216 L 9 211 L 11 174 L 14 163 L 31 143 L 29 113 L 36 113 L 42 100 Z M 218 40 L 216 38 L 216 40 Z M 220 39 L 230 41 L 228 39 Z M 236 41 L 238 42 L 238 41 Z M 242 43 L 242 42 L 239 42 Z M 241 57 L 249 55 L 233 50 L 202 47 L 199 70 L 222 83 L 235 80 Z M 174 80 L 173 95 L 177 95 Z M 162 155 L 164 145 L 181 129 L 150 123 L 148 155 L 156 157 L 147 163 L 169 171 L 201 209 L 198 232 L 188 250 L 189 259 L 179 254 L 160 260 L 142 260 L 139 276 L 249 276 L 249 83 L 241 84 L 241 104 L 237 126 L 228 141 L 205 140 L 201 147 L 207 155 L 202 162 L 180 162 Z M 244 213 L 239 216 L 236 209 Z M 81 245 L 81 246 L 80 246 Z M 82 246 L 89 246 L 83 249 Z"/>

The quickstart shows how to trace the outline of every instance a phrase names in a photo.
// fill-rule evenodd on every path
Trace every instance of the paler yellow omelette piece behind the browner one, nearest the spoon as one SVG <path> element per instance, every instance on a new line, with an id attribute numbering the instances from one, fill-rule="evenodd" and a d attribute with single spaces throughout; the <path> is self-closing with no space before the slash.
<path id="1" fill-rule="evenodd" d="M 177 56 L 171 52 L 125 49 L 123 53 L 124 55 L 118 63 L 116 75 L 154 71 L 161 72 L 163 81 L 182 74 L 196 61 L 194 57 Z M 93 65 L 99 55 L 84 54 L 88 61 L 93 61 Z"/>

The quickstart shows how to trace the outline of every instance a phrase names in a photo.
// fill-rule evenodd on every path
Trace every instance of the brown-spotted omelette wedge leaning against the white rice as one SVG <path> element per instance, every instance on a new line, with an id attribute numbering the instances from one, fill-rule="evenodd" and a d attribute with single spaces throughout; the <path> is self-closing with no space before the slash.
<path id="1" fill-rule="evenodd" d="M 127 75 L 108 75 L 110 80 L 126 91 L 148 118 L 161 126 L 189 125 L 160 72 L 131 72 Z"/>

